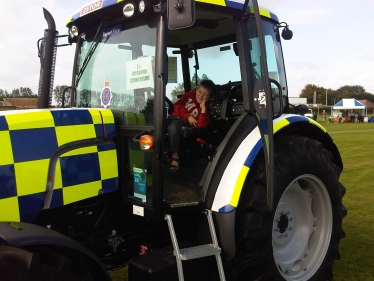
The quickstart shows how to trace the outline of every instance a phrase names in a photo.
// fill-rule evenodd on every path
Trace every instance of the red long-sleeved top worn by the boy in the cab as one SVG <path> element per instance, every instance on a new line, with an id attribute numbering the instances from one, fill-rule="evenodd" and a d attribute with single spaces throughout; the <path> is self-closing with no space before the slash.
<path id="1" fill-rule="evenodd" d="M 208 106 L 207 106 L 208 110 Z M 179 117 L 181 120 L 188 121 L 188 117 L 193 116 L 197 120 L 196 127 L 204 128 L 208 126 L 209 113 L 201 113 L 200 104 L 196 100 L 196 92 L 187 92 L 174 103 L 172 116 Z"/>

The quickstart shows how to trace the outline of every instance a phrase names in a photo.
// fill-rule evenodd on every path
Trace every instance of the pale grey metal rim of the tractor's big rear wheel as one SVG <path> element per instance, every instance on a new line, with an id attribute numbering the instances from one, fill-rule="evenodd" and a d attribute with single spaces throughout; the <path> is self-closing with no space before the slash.
<path id="1" fill-rule="evenodd" d="M 273 254 L 286 280 L 308 280 L 320 267 L 330 244 L 332 207 L 317 177 L 303 175 L 284 191 L 273 222 Z"/>

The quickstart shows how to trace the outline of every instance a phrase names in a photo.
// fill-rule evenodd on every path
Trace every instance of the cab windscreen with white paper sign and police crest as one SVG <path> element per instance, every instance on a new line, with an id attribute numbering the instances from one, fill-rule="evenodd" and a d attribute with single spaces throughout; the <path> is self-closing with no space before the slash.
<path id="1" fill-rule="evenodd" d="M 154 94 L 156 24 L 149 22 L 113 24 L 81 36 L 77 107 L 144 110 Z"/>

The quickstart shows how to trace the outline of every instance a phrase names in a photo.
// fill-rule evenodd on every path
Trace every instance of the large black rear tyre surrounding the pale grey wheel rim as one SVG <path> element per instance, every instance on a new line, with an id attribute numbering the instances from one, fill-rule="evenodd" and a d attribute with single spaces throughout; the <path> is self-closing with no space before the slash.
<path id="1" fill-rule="evenodd" d="M 264 160 L 257 159 L 236 215 L 236 255 L 231 280 L 331 280 L 345 236 L 341 170 L 319 142 L 275 140 L 274 214 L 266 208 Z"/>

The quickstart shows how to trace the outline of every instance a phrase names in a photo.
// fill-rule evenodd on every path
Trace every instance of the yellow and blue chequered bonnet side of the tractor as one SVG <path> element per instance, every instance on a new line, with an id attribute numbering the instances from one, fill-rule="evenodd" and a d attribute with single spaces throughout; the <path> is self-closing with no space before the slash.
<path id="1" fill-rule="evenodd" d="M 29 110 L 0 115 L 0 220 L 32 221 L 46 190 L 49 160 L 69 142 L 114 137 L 109 110 Z M 51 208 L 118 189 L 116 148 L 109 143 L 62 155 Z M 65 191 L 66 189 L 66 191 Z"/>

